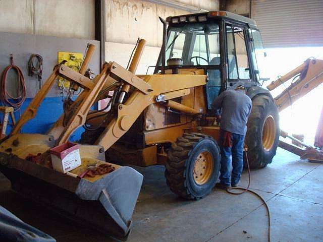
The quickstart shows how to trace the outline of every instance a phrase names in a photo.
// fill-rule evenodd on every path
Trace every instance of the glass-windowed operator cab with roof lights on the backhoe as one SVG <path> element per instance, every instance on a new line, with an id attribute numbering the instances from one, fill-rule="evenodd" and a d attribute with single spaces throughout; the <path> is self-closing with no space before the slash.
<path id="1" fill-rule="evenodd" d="M 257 64 L 265 55 L 253 20 L 217 11 L 168 17 L 167 22 L 166 69 L 173 69 L 174 63 L 179 69 L 204 69 L 208 109 L 224 90 L 259 86 Z M 162 52 L 155 73 L 161 70 Z"/>

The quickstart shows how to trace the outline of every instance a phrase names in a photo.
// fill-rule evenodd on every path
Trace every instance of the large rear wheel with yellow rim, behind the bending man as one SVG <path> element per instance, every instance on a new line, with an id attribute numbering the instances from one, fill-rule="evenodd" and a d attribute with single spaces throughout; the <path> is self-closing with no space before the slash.
<path id="1" fill-rule="evenodd" d="M 279 142 L 279 114 L 271 97 L 259 95 L 252 99 L 247 123 L 246 145 L 250 168 L 272 163 Z"/>

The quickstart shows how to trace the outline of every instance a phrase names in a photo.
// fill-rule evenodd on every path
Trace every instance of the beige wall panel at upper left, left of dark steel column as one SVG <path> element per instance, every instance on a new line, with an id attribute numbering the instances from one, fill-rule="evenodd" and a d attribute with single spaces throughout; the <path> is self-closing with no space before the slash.
<path id="1" fill-rule="evenodd" d="M 0 32 L 94 39 L 94 1 L 2 0 Z"/>

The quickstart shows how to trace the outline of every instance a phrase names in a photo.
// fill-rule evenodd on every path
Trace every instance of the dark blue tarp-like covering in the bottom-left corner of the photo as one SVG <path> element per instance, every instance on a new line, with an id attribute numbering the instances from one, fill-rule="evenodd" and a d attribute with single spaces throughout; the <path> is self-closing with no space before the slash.
<path id="1" fill-rule="evenodd" d="M 0 206 L 0 241 L 56 242 L 56 239 L 23 222 L 7 209 Z"/>

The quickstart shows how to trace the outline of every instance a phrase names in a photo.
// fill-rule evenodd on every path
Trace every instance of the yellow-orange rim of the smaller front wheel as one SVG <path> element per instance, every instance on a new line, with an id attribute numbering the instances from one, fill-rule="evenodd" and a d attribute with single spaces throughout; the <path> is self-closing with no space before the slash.
<path id="1" fill-rule="evenodd" d="M 195 183 L 203 185 L 207 183 L 213 171 L 213 159 L 212 155 L 203 151 L 195 159 L 193 177 Z"/>

